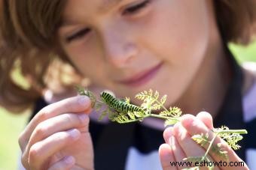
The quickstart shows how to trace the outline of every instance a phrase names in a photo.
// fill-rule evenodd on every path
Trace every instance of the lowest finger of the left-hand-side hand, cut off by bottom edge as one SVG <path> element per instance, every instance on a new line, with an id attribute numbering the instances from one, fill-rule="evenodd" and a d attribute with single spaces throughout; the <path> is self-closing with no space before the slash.
<path id="1" fill-rule="evenodd" d="M 75 158 L 72 156 L 64 157 L 62 160 L 59 160 L 58 162 L 54 163 L 53 166 L 50 167 L 48 170 L 68 170 L 71 169 L 72 166 L 75 165 Z"/>

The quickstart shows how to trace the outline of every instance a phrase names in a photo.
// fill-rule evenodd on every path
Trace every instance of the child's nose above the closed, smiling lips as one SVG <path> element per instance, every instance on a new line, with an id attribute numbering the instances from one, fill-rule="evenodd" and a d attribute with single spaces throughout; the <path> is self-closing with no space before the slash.
<path id="1" fill-rule="evenodd" d="M 138 53 L 132 34 L 126 31 L 105 30 L 102 37 L 105 59 L 114 67 L 127 67 Z"/>

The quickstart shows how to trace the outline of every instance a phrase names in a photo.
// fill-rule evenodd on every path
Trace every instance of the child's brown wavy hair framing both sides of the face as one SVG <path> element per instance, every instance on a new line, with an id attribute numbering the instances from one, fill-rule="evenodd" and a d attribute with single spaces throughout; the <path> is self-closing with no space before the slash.
<path id="1" fill-rule="evenodd" d="M 62 64 L 72 66 L 62 52 L 54 55 L 59 51 L 56 31 L 65 5 L 65 0 L 0 1 L 0 105 L 12 112 L 26 109 L 41 97 L 49 82 L 63 75 Z M 215 0 L 214 5 L 224 43 L 249 43 L 256 22 L 256 1 Z M 79 75 L 72 68 L 68 72 Z M 17 70 L 26 78 L 26 87 L 17 82 Z M 80 81 L 77 78 L 69 83 L 63 79 L 56 82 L 69 87 Z"/>

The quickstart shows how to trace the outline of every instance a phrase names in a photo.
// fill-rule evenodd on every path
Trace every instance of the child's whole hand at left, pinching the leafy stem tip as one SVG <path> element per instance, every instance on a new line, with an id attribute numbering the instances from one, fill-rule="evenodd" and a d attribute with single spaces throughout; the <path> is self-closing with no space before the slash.
<path id="1" fill-rule="evenodd" d="M 94 169 L 90 99 L 70 97 L 44 107 L 20 135 L 26 169 Z"/>

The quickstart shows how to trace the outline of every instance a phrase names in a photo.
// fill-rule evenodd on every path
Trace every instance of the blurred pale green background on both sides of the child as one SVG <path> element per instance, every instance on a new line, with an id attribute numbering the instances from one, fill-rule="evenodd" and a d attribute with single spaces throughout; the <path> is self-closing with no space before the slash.
<path id="1" fill-rule="evenodd" d="M 230 49 L 239 62 L 256 61 L 256 42 L 247 47 L 230 44 Z M 17 169 L 20 153 L 17 139 L 26 126 L 28 117 L 29 111 L 14 115 L 0 109 L 0 170 Z"/>

